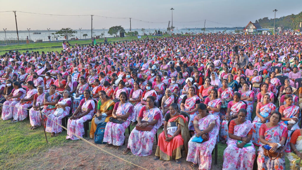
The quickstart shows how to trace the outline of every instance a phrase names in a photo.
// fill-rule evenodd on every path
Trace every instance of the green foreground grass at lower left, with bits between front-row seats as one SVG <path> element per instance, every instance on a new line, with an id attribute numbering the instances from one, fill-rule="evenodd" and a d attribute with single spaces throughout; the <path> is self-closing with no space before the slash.
<path id="1" fill-rule="evenodd" d="M 254 103 L 254 107 L 256 103 Z M 255 112 L 253 112 L 253 118 Z M 0 169 L 22 169 L 23 165 L 31 165 L 28 161 L 30 158 L 36 159 L 41 153 L 47 152 L 48 149 L 53 147 L 64 147 L 67 142 L 78 142 L 66 140 L 66 131 L 57 137 L 50 137 L 50 133 L 47 134 L 49 143 L 46 143 L 43 127 L 39 127 L 35 130 L 30 130 L 31 127 L 29 121 L 25 119 L 18 123 L 8 123 L 9 120 L 0 120 Z M 131 126 L 131 130 L 134 126 Z M 159 129 L 158 135 L 162 132 L 162 128 Z M 89 133 L 89 132 L 88 132 Z M 89 137 L 88 137 L 89 138 Z M 126 140 L 128 140 L 128 130 L 126 129 Z M 90 140 L 92 141 L 92 140 Z M 154 141 L 155 142 L 155 141 Z M 154 143 L 156 145 L 156 143 Z M 212 155 L 213 168 L 222 168 L 223 164 L 223 151 L 226 148 L 226 144 L 218 143 L 218 161 L 214 166 L 214 154 Z M 91 147 L 92 148 L 92 147 Z M 153 147 L 154 148 L 154 147 Z M 256 147 L 258 149 L 258 147 Z M 100 151 L 101 152 L 101 151 Z M 110 152 L 110 150 L 109 150 Z M 286 158 L 286 168 L 289 169 L 289 161 Z M 35 161 L 35 160 L 32 160 Z"/>

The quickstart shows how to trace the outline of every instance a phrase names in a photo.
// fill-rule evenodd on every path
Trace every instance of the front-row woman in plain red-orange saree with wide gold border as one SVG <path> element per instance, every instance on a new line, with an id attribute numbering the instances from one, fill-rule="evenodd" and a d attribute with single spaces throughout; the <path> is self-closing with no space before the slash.
<path id="1" fill-rule="evenodd" d="M 185 147 L 188 152 L 188 141 L 190 139 L 188 124 L 183 115 L 180 114 L 176 103 L 169 107 L 169 113 L 165 115 L 164 130 L 159 134 L 158 144 L 154 160 L 171 161 L 175 159 L 176 163 L 181 163 L 181 150 Z"/>

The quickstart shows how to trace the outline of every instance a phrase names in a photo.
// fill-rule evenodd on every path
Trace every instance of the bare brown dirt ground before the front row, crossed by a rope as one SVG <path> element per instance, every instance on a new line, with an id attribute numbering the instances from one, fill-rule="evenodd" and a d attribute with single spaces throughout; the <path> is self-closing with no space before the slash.
<path id="1" fill-rule="evenodd" d="M 88 140 L 93 142 L 92 139 Z M 127 141 L 127 137 L 126 137 Z M 153 154 L 146 157 L 139 157 L 129 152 L 123 155 L 122 151 L 127 145 L 122 146 L 122 150 L 117 150 L 113 146 L 105 147 L 105 145 L 97 144 L 101 149 L 104 149 L 111 154 L 114 154 L 122 159 L 125 159 L 134 164 L 140 165 L 149 170 L 171 170 L 171 169 L 190 169 L 191 162 L 187 162 L 182 158 L 181 164 L 176 164 L 175 161 L 154 161 L 153 157 L 156 150 L 156 142 L 153 145 Z M 141 168 L 118 159 L 84 141 L 68 142 L 64 146 L 54 147 L 47 152 L 40 153 L 36 158 L 31 158 L 22 169 L 123 169 L 123 170 L 139 170 Z M 220 162 L 218 162 L 219 164 Z M 221 169 L 221 165 L 214 165 L 214 155 L 212 162 L 212 170 Z M 195 169 L 198 169 L 196 166 Z"/>

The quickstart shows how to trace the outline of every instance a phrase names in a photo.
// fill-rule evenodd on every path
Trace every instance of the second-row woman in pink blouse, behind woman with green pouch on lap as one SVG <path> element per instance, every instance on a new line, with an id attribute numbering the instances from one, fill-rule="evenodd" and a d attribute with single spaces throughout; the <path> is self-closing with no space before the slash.
<path id="1" fill-rule="evenodd" d="M 234 100 L 228 103 L 226 115 L 221 116 L 221 118 L 223 119 L 221 123 L 221 131 L 220 131 L 220 139 L 222 143 L 226 143 L 226 140 L 229 139 L 229 134 L 228 134 L 229 121 L 237 117 L 240 109 L 246 108 L 246 104 L 240 100 L 241 99 L 240 93 L 238 92 L 234 93 L 233 98 Z"/>

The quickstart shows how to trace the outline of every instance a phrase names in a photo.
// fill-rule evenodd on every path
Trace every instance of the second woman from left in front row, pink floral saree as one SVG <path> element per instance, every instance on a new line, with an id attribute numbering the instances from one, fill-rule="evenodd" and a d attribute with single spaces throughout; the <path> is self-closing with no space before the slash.
<path id="1" fill-rule="evenodd" d="M 14 119 L 12 123 L 22 121 L 27 117 L 27 108 L 32 106 L 34 95 L 38 93 L 33 81 L 27 82 L 28 91 L 26 96 L 20 100 L 14 107 Z"/>

